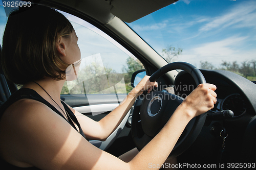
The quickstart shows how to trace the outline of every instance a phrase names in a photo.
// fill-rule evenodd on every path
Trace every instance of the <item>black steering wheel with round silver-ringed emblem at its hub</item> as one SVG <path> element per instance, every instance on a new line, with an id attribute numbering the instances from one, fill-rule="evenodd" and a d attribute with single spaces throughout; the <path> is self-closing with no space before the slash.
<path id="1" fill-rule="evenodd" d="M 197 86 L 206 83 L 201 71 L 185 62 L 173 62 L 163 66 L 154 72 L 150 81 L 155 82 L 174 69 L 187 71 Z M 139 151 L 157 135 L 183 100 L 180 96 L 165 91 L 152 91 L 138 97 L 132 115 L 132 137 Z M 190 147 L 201 132 L 206 116 L 201 114 L 190 120 L 168 158 L 177 157 Z"/>

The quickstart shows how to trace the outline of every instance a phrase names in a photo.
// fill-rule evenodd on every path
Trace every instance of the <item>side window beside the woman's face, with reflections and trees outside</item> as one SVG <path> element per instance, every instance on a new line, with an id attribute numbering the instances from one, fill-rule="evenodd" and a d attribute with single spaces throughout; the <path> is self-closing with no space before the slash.
<path id="1" fill-rule="evenodd" d="M 129 93 L 132 74 L 144 68 L 142 63 L 90 23 L 63 14 L 71 21 L 78 36 L 81 60 L 67 68 L 67 81 L 61 94 Z"/>

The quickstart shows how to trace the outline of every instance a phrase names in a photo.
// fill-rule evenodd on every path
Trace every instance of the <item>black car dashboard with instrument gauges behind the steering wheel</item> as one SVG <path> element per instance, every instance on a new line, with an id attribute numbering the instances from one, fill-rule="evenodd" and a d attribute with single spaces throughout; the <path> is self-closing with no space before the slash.
<path id="1" fill-rule="evenodd" d="M 233 117 L 207 120 L 198 138 L 191 147 L 179 156 L 180 161 L 198 162 L 208 160 L 210 163 L 220 161 L 223 138 L 220 133 L 225 130 L 225 156 L 222 162 L 247 162 L 256 158 L 256 84 L 225 70 L 200 70 L 207 83 L 217 86 L 217 103 L 206 114 L 222 110 L 231 110 Z M 196 83 L 185 71 L 179 72 L 175 79 L 176 95 L 185 98 L 196 88 Z M 206 153 L 207 151 L 207 153 Z M 224 151 L 224 150 L 223 150 Z M 210 153 L 210 154 L 209 154 Z"/>

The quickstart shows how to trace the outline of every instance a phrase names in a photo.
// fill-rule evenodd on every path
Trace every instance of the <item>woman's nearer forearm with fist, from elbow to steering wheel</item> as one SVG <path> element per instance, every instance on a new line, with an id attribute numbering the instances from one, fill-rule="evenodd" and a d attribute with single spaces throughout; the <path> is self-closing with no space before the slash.
<path id="1" fill-rule="evenodd" d="M 187 123 L 214 107 L 215 89 L 215 85 L 201 84 L 187 96 L 162 130 L 129 162 L 131 169 L 146 169 L 149 163 L 163 164 Z"/>

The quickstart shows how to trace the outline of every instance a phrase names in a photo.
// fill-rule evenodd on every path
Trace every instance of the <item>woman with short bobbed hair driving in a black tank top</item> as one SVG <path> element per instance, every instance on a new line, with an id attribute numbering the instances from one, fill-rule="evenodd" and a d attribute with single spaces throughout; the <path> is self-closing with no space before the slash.
<path id="1" fill-rule="evenodd" d="M 0 153 L 5 166 L 39 169 L 152 169 L 163 164 L 189 120 L 214 107 L 215 85 L 199 85 L 164 128 L 140 152 L 121 160 L 87 139 L 105 140 L 137 96 L 157 83 L 148 76 L 99 122 L 60 100 L 66 68 L 80 60 L 71 23 L 54 9 L 22 7 L 8 18 L 1 62 L 6 77 L 22 88 L 1 108 Z M 164 147 L 163 147 L 164 146 Z M 136 153 L 136 154 L 134 154 Z M 13 165 L 13 166 L 12 166 Z"/>

